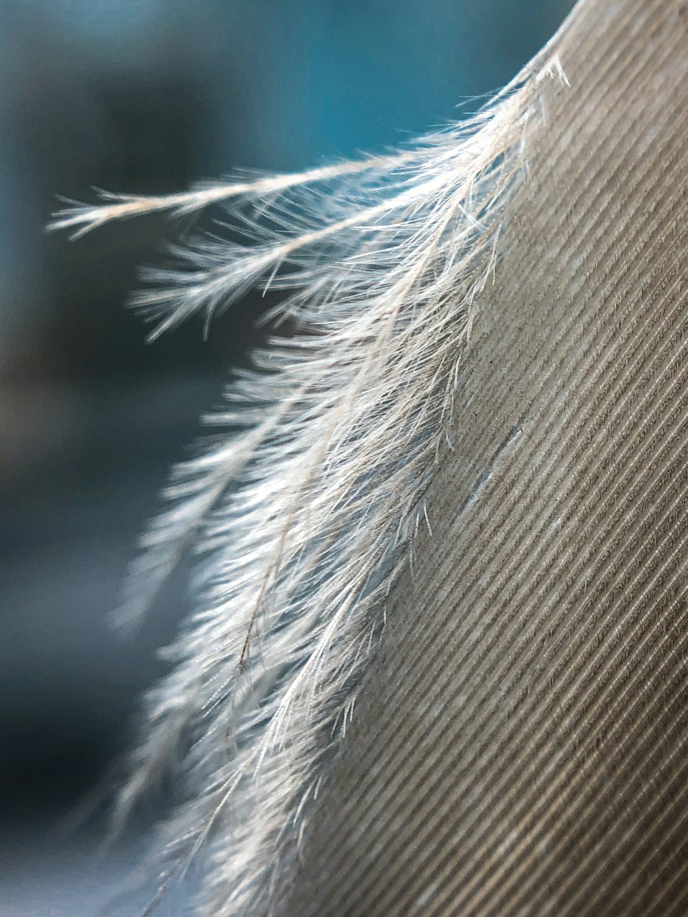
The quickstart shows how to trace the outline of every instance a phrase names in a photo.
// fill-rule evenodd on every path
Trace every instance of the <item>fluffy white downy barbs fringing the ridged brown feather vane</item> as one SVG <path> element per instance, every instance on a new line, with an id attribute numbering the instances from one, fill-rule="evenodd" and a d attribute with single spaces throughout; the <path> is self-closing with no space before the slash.
<path id="1" fill-rule="evenodd" d="M 213 417 L 241 432 L 173 470 L 171 508 L 128 580 L 133 621 L 190 543 L 205 552 L 117 801 L 119 821 L 179 765 L 156 900 L 197 859 L 199 912 L 281 910 L 386 597 L 430 525 L 424 494 L 452 449 L 454 392 L 530 139 L 547 129 L 546 87 L 569 91 L 560 35 L 476 115 L 400 151 L 170 196 L 103 194 L 55 215 L 51 228 L 78 237 L 222 204 L 245 245 L 198 238 L 148 271 L 135 304 L 150 337 L 197 312 L 209 322 L 253 286 L 284 291 L 273 317 L 290 320 Z"/>

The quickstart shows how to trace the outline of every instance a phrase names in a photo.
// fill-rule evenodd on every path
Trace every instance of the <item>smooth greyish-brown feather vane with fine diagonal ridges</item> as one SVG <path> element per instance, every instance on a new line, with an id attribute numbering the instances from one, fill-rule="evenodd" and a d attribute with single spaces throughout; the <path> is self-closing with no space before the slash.
<path id="1" fill-rule="evenodd" d="M 688 912 L 688 4 L 557 50 L 294 915 Z"/>

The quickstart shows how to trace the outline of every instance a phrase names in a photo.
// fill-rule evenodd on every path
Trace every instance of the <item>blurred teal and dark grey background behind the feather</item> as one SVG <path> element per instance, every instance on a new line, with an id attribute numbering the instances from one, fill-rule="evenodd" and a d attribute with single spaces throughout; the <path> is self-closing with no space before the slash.
<path id="1" fill-rule="evenodd" d="M 184 570 L 137 634 L 116 635 L 107 613 L 166 470 L 260 343 L 264 307 L 249 297 L 208 341 L 198 321 L 147 346 L 123 303 L 139 266 L 190 226 L 147 218 L 70 242 L 43 231 L 56 195 L 173 192 L 405 141 L 508 82 L 571 6 L 0 0 L 3 917 L 78 917 L 108 900 L 137 912 L 112 898 L 163 802 L 94 856 L 105 810 L 88 801 L 164 670 L 155 649 L 189 607 Z M 186 912 L 183 900 L 161 912 Z"/>

